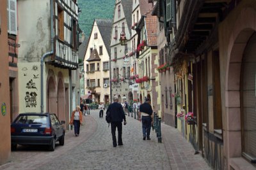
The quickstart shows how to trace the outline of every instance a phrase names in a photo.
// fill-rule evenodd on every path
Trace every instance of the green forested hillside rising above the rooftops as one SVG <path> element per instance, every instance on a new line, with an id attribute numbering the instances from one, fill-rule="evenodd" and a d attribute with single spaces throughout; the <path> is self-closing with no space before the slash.
<path id="1" fill-rule="evenodd" d="M 78 0 L 79 27 L 88 38 L 95 18 L 113 18 L 115 0 Z"/>

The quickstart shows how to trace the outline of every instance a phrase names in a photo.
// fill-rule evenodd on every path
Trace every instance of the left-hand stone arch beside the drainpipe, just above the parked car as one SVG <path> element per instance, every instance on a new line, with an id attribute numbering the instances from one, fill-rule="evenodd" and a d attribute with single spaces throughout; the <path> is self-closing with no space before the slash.
<path id="1" fill-rule="evenodd" d="M 57 97 L 56 97 L 56 88 L 54 79 L 51 76 L 48 80 L 47 86 L 47 112 L 49 113 L 57 113 Z"/>

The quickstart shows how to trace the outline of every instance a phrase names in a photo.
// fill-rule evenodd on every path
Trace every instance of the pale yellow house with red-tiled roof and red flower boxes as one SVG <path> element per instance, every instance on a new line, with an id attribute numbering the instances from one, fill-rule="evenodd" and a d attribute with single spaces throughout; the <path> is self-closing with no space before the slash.
<path id="1" fill-rule="evenodd" d="M 157 17 L 152 16 L 150 11 L 141 17 L 136 25 L 136 32 L 138 34 L 137 53 L 138 57 L 138 78 L 136 82 L 139 83 L 140 102 L 145 102 L 145 98 L 151 99 L 151 104 L 154 111 L 160 109 L 157 104 L 157 90 L 159 90 L 159 83 L 156 81 L 157 77 Z"/>

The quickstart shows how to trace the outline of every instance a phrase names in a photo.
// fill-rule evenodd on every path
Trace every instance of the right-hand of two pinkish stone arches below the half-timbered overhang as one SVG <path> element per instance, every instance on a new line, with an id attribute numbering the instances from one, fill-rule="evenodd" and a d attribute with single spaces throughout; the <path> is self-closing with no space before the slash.
<path id="1" fill-rule="evenodd" d="M 62 78 L 58 80 L 58 118 L 65 120 L 65 89 Z"/>

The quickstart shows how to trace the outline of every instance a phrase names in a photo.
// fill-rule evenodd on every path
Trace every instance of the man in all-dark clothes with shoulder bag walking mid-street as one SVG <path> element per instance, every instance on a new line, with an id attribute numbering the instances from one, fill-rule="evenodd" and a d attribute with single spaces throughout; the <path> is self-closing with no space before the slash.
<path id="1" fill-rule="evenodd" d="M 113 139 L 113 146 L 116 147 L 116 127 L 118 131 L 118 146 L 123 145 L 122 141 L 122 122 L 126 125 L 125 114 L 122 108 L 122 104 L 118 103 L 118 97 L 113 97 L 114 103 L 110 104 L 107 112 L 110 113 L 111 117 L 111 134 Z"/>

